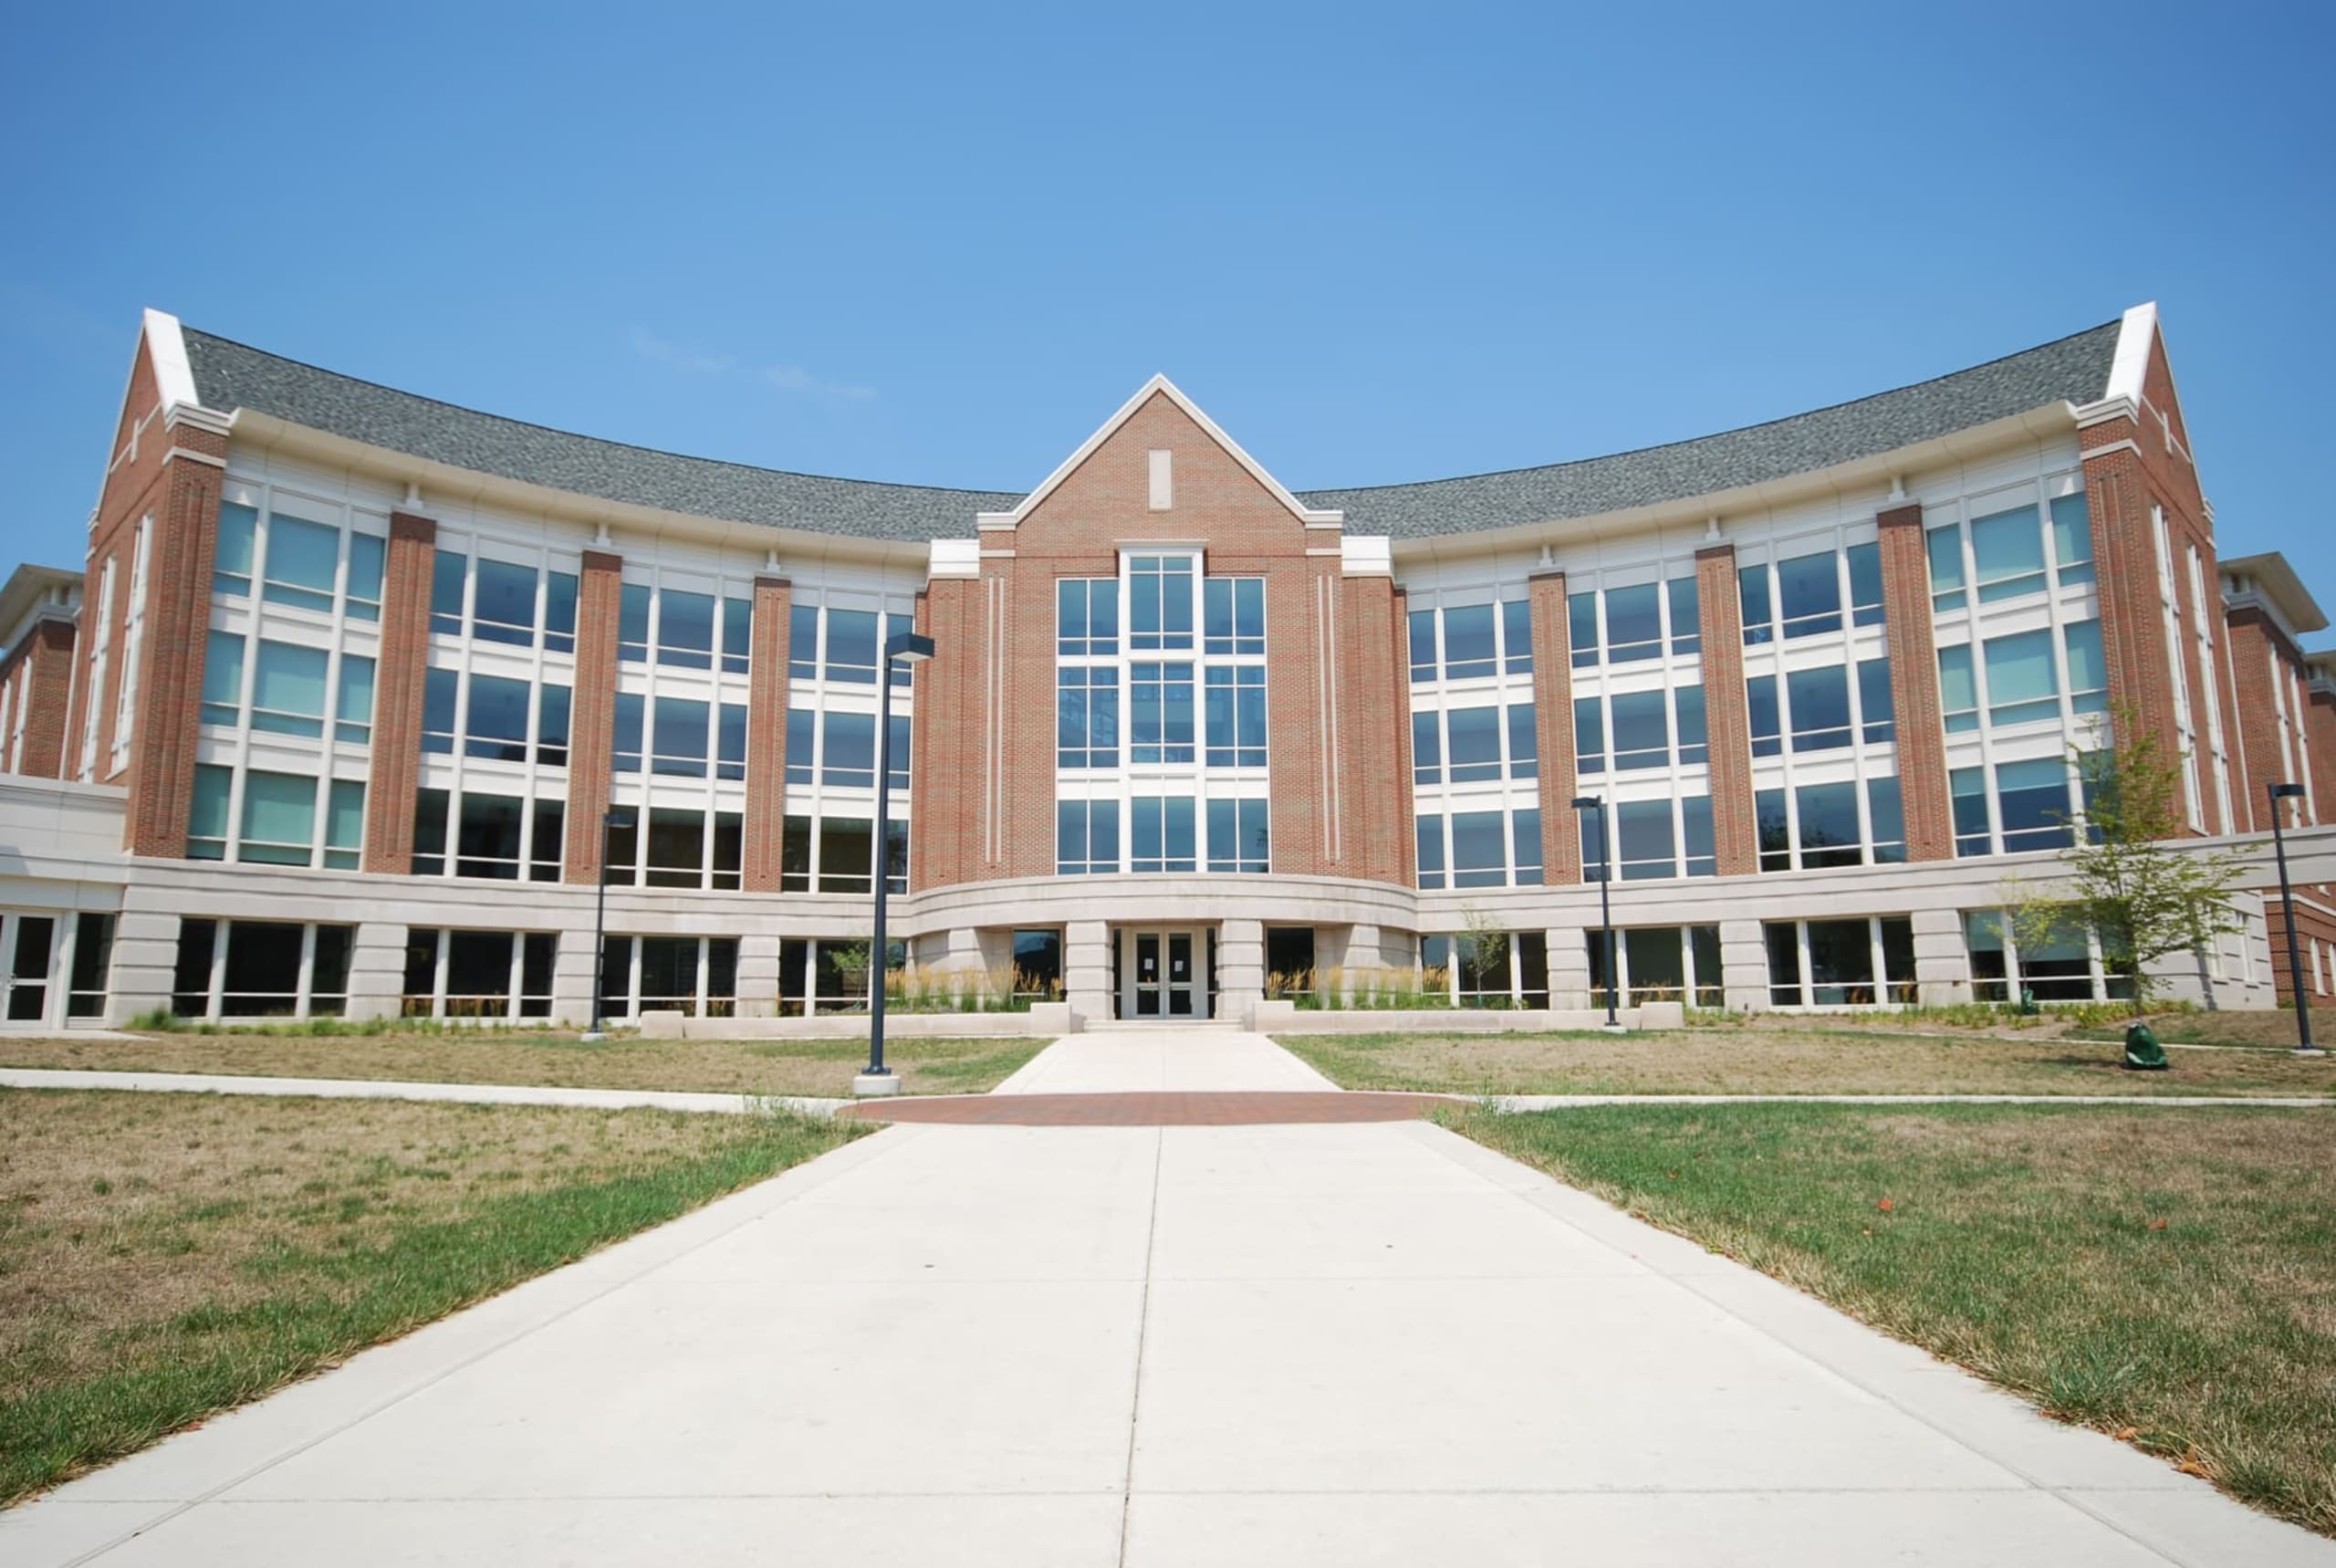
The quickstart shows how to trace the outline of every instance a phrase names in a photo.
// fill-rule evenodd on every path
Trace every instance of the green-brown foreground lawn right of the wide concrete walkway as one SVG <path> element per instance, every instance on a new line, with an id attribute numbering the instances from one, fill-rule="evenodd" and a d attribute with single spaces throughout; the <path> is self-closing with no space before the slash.
<path id="1" fill-rule="evenodd" d="M 2336 1110 L 1607 1105 L 1448 1122 L 2336 1535 Z"/>

